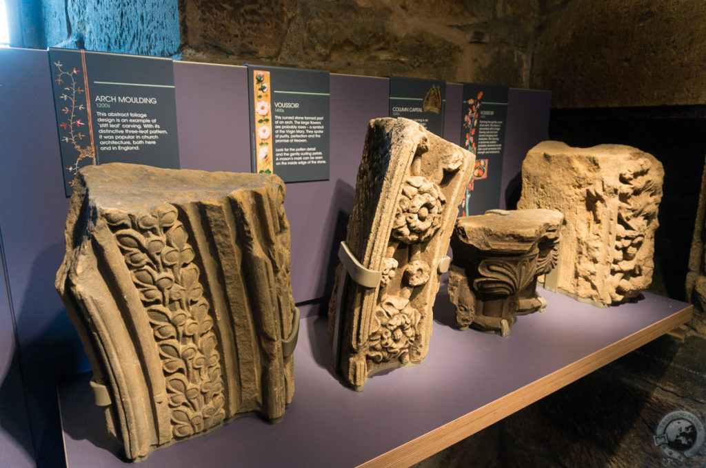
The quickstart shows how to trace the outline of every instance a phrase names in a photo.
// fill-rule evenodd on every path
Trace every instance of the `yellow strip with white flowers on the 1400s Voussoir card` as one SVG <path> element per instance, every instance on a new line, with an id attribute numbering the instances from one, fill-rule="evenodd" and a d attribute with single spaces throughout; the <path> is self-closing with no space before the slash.
<path id="1" fill-rule="evenodd" d="M 270 97 L 270 72 L 253 71 L 253 90 L 255 97 L 256 122 L 256 172 L 273 172 L 272 147 L 272 105 Z"/>

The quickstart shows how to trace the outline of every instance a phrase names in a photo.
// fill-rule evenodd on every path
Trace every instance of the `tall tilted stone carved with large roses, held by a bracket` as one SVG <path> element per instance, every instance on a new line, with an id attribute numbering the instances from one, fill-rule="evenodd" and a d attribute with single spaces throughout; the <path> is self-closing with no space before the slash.
<path id="1" fill-rule="evenodd" d="M 361 390 L 370 374 L 426 356 L 438 262 L 473 163 L 405 118 L 369 123 L 346 243 L 381 279 L 367 288 L 339 268 L 329 309 L 335 367 L 349 385 Z"/>

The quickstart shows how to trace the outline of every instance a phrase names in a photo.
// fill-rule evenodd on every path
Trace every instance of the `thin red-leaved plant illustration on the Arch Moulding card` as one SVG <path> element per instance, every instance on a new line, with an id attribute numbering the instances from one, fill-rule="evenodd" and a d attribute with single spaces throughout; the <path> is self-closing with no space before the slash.
<path id="1" fill-rule="evenodd" d="M 71 71 L 66 71 L 61 61 L 54 62 L 54 66 L 56 67 L 54 82 L 56 82 L 59 92 L 61 92 L 58 99 L 64 101 L 64 107 L 59 109 L 61 113 L 64 113 L 64 118 L 61 118 L 61 123 L 59 123 L 59 137 L 62 142 L 71 144 L 73 149 L 76 150 L 76 159 L 65 167 L 66 171 L 73 175 L 76 174 L 78 169 L 85 166 L 86 162 L 88 164 L 97 164 L 95 147 L 92 142 L 85 144 L 85 146 L 83 143 L 84 138 L 91 137 L 89 109 L 85 97 L 85 88 L 81 86 L 83 79 L 78 78 L 81 70 L 73 67 Z M 89 130 L 82 128 L 85 125 L 88 125 Z M 88 133 L 83 133 L 87 131 Z M 80 161 L 84 162 L 80 163 Z M 73 180 L 69 182 L 69 185 L 73 187 Z"/>

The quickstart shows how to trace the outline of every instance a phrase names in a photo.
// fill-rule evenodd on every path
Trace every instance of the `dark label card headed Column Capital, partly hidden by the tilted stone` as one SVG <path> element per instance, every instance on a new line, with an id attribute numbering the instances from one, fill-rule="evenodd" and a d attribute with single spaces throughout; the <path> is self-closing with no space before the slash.
<path id="1" fill-rule="evenodd" d="M 445 102 L 443 80 L 390 77 L 390 117 L 409 118 L 443 137 Z"/>

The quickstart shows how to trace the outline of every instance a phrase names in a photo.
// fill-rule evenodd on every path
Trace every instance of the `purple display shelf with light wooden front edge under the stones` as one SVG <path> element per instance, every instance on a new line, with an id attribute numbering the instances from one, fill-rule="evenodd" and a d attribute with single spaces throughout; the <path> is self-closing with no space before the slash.
<path id="1" fill-rule="evenodd" d="M 280 424 L 243 417 L 139 466 L 407 467 L 686 323 L 692 311 L 649 293 L 606 309 L 540 293 L 546 310 L 518 316 L 501 337 L 451 328 L 442 290 L 424 362 L 371 376 L 362 393 L 335 378 L 325 316 L 301 319 L 294 400 Z M 89 379 L 59 385 L 67 467 L 123 466 Z"/>

